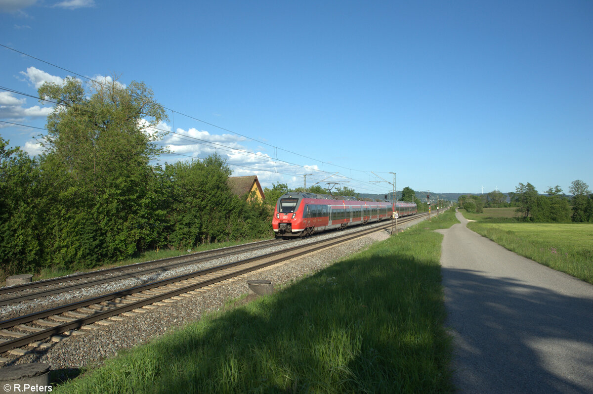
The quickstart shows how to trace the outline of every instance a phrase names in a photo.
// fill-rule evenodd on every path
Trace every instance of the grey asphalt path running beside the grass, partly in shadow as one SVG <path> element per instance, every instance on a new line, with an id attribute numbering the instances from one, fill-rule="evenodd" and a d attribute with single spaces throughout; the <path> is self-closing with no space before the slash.
<path id="1" fill-rule="evenodd" d="M 458 392 L 593 393 L 593 285 L 509 252 L 457 218 L 438 232 Z"/>

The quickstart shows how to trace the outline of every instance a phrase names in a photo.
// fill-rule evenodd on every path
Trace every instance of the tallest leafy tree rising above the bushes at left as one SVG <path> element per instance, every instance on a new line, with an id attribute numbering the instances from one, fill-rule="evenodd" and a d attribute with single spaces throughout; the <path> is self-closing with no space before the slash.
<path id="1" fill-rule="evenodd" d="M 162 150 L 154 126 L 163 107 L 143 82 L 116 78 L 44 83 L 39 96 L 55 101 L 47 117 L 43 171 L 55 183 L 47 198 L 55 259 L 93 266 L 122 259 L 157 242 L 158 185 L 149 161 Z"/>

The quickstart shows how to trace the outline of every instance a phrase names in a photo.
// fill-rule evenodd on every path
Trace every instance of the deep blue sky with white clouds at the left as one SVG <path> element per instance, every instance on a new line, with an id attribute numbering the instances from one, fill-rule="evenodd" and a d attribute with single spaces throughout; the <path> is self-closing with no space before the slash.
<path id="1" fill-rule="evenodd" d="M 186 136 L 161 162 L 216 151 L 264 186 L 313 174 L 361 193 L 390 172 L 398 190 L 593 189 L 589 0 L 0 0 L 0 37 L 71 71 L 0 47 L 3 88 L 144 81 Z M 0 120 L 43 127 L 49 110 L 0 90 Z M 39 132 L 0 122 L 30 154 Z"/>

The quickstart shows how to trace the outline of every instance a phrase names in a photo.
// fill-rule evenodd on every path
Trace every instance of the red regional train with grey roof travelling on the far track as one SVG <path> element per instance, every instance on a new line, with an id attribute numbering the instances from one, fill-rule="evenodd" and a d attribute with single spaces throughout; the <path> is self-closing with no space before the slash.
<path id="1" fill-rule="evenodd" d="M 276 202 L 272 227 L 276 237 L 300 237 L 392 217 L 393 202 L 368 200 L 315 193 L 287 193 Z M 414 215 L 417 207 L 413 202 L 398 201 L 396 212 L 399 217 Z"/>

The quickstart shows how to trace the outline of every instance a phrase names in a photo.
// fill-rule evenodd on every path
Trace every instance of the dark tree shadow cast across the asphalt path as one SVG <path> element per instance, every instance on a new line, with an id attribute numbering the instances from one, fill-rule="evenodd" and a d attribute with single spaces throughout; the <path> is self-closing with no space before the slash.
<path id="1" fill-rule="evenodd" d="M 460 392 L 593 393 L 593 297 L 442 268 Z"/>

